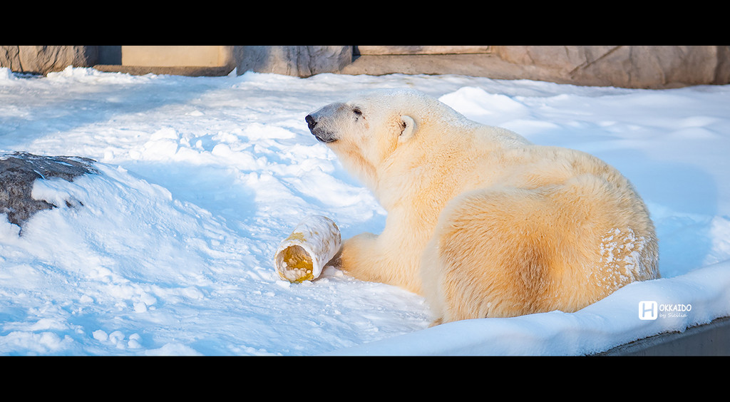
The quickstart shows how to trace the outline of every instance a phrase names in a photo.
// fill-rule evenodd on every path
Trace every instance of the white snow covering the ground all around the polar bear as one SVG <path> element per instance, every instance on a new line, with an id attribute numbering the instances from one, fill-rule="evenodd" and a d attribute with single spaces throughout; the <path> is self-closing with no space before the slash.
<path id="1" fill-rule="evenodd" d="M 402 87 L 623 171 L 656 223 L 662 278 L 575 313 L 433 328 L 423 298 L 396 287 L 332 267 L 281 279 L 274 251 L 304 217 L 331 217 L 343 239 L 385 224 L 304 116 Z M 82 156 L 101 171 L 37 182 L 34 197 L 61 206 L 22 236 L 0 218 L 0 354 L 585 355 L 728 316 L 729 105 L 730 86 L 0 69 L 0 153 Z M 655 320 L 639 316 L 648 301 Z"/>

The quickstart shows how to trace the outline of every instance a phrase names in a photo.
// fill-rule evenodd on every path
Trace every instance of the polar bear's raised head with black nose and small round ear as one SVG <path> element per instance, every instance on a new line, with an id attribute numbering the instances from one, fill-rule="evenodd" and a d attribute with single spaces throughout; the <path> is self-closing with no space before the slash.
<path id="1" fill-rule="evenodd" d="M 327 144 L 345 168 L 365 182 L 377 180 L 378 166 L 412 142 L 423 142 L 434 116 L 445 104 L 415 90 L 375 90 L 350 101 L 328 104 L 305 120 L 312 134 Z M 453 113 L 453 110 L 447 114 Z"/>

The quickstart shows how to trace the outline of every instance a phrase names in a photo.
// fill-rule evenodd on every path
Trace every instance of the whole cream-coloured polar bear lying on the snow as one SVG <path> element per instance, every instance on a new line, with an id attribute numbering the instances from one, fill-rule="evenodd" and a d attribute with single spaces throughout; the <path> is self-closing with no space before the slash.
<path id="1" fill-rule="evenodd" d="M 415 90 L 375 90 L 305 120 L 388 212 L 379 236 L 343 243 L 342 270 L 423 295 L 434 325 L 575 312 L 659 277 L 648 209 L 598 158 Z"/>

